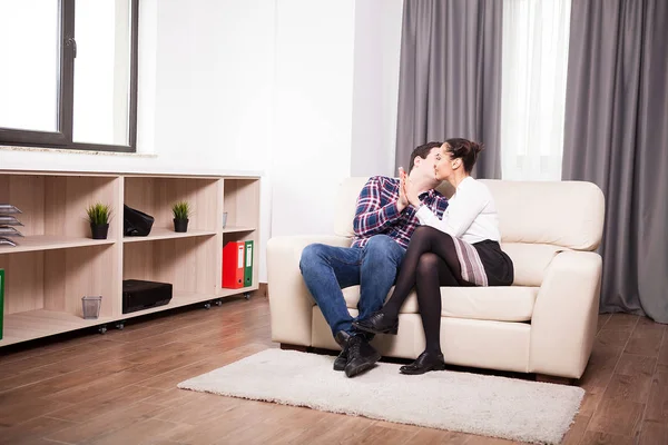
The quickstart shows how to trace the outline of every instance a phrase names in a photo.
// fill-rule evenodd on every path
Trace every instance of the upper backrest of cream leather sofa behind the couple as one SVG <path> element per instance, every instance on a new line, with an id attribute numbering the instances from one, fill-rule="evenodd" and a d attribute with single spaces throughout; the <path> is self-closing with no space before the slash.
<path id="1" fill-rule="evenodd" d="M 357 195 L 369 177 L 346 178 L 336 202 L 336 235 L 351 237 Z M 499 211 L 502 243 L 548 244 L 595 250 L 602 237 L 605 199 L 598 186 L 584 181 L 509 181 L 481 179 Z M 450 185 L 439 187 L 452 195 Z"/>

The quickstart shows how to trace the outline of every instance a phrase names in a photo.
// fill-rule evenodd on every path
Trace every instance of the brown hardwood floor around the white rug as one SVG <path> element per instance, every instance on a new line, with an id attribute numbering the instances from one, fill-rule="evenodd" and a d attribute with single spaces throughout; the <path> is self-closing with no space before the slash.
<path id="1" fill-rule="evenodd" d="M 0 349 L 1 444 L 511 444 L 176 388 L 277 347 L 264 296 Z M 668 444 L 668 330 L 601 315 L 564 444 Z"/>

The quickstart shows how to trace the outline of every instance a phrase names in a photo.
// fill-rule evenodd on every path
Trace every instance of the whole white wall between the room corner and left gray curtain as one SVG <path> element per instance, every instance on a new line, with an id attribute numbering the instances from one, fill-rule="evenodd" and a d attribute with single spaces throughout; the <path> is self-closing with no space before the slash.
<path id="1" fill-rule="evenodd" d="M 338 182 L 392 175 L 403 0 L 279 0 L 272 236 L 332 234 Z"/>

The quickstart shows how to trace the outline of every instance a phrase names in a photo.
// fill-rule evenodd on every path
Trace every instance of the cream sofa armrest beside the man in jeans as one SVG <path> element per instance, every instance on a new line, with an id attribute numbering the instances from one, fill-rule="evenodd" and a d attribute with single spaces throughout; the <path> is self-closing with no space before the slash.
<path id="1" fill-rule="evenodd" d="M 311 346 L 313 306 L 299 259 L 304 247 L 313 243 L 348 247 L 351 238 L 340 236 L 282 236 L 267 243 L 267 279 L 272 339 Z"/>

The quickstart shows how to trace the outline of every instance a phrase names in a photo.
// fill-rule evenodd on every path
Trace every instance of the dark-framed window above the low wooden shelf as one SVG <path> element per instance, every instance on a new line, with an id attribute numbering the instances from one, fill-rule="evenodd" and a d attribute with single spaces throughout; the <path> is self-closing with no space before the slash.
<path id="1" fill-rule="evenodd" d="M 0 0 L 0 145 L 135 151 L 138 0 Z"/>

